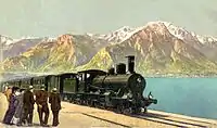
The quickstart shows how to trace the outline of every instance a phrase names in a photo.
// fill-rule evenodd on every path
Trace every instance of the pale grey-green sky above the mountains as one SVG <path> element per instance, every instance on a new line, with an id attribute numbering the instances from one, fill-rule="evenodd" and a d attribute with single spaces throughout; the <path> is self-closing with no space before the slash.
<path id="1" fill-rule="evenodd" d="M 0 35 L 108 34 L 164 21 L 217 36 L 217 0 L 0 0 Z"/>

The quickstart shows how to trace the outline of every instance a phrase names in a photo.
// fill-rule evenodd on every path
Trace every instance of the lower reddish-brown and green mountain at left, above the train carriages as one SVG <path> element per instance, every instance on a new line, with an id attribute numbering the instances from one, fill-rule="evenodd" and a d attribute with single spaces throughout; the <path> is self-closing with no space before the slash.
<path id="1" fill-rule="evenodd" d="M 4 60 L 4 71 L 63 72 L 86 64 L 106 42 L 89 36 L 63 35 L 43 40 L 22 54 Z M 91 46 L 91 47 L 90 47 Z"/>

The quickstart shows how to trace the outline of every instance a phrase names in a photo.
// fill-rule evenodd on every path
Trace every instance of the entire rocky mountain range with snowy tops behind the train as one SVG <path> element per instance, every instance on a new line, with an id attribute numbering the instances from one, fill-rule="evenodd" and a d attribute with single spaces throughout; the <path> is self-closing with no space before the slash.
<path id="1" fill-rule="evenodd" d="M 3 47 L 1 73 L 106 71 L 117 63 L 126 63 L 126 55 L 136 55 L 136 71 L 143 75 L 217 73 L 216 38 L 200 36 L 161 21 L 138 28 L 124 26 L 107 35 L 0 38 Z"/>

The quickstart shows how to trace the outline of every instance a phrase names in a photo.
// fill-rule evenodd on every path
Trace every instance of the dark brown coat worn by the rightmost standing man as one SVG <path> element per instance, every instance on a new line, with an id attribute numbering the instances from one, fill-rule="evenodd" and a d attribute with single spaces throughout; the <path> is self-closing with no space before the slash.
<path id="1" fill-rule="evenodd" d="M 49 103 L 51 104 L 52 111 L 60 111 L 61 110 L 61 97 L 56 92 L 51 92 L 49 97 Z"/>

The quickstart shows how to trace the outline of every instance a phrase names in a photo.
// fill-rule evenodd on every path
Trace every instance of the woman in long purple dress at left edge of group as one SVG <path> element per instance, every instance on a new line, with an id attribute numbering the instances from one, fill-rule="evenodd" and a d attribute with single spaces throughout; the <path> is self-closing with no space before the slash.
<path id="1" fill-rule="evenodd" d="M 11 120 L 12 120 L 13 115 L 15 113 L 15 108 L 16 108 L 15 92 L 16 92 L 17 89 L 18 89 L 17 87 L 12 88 L 12 94 L 11 94 L 10 102 L 9 102 L 9 108 L 8 108 L 8 111 L 4 115 L 4 118 L 3 118 L 3 123 L 8 124 L 8 125 L 12 125 Z"/>

